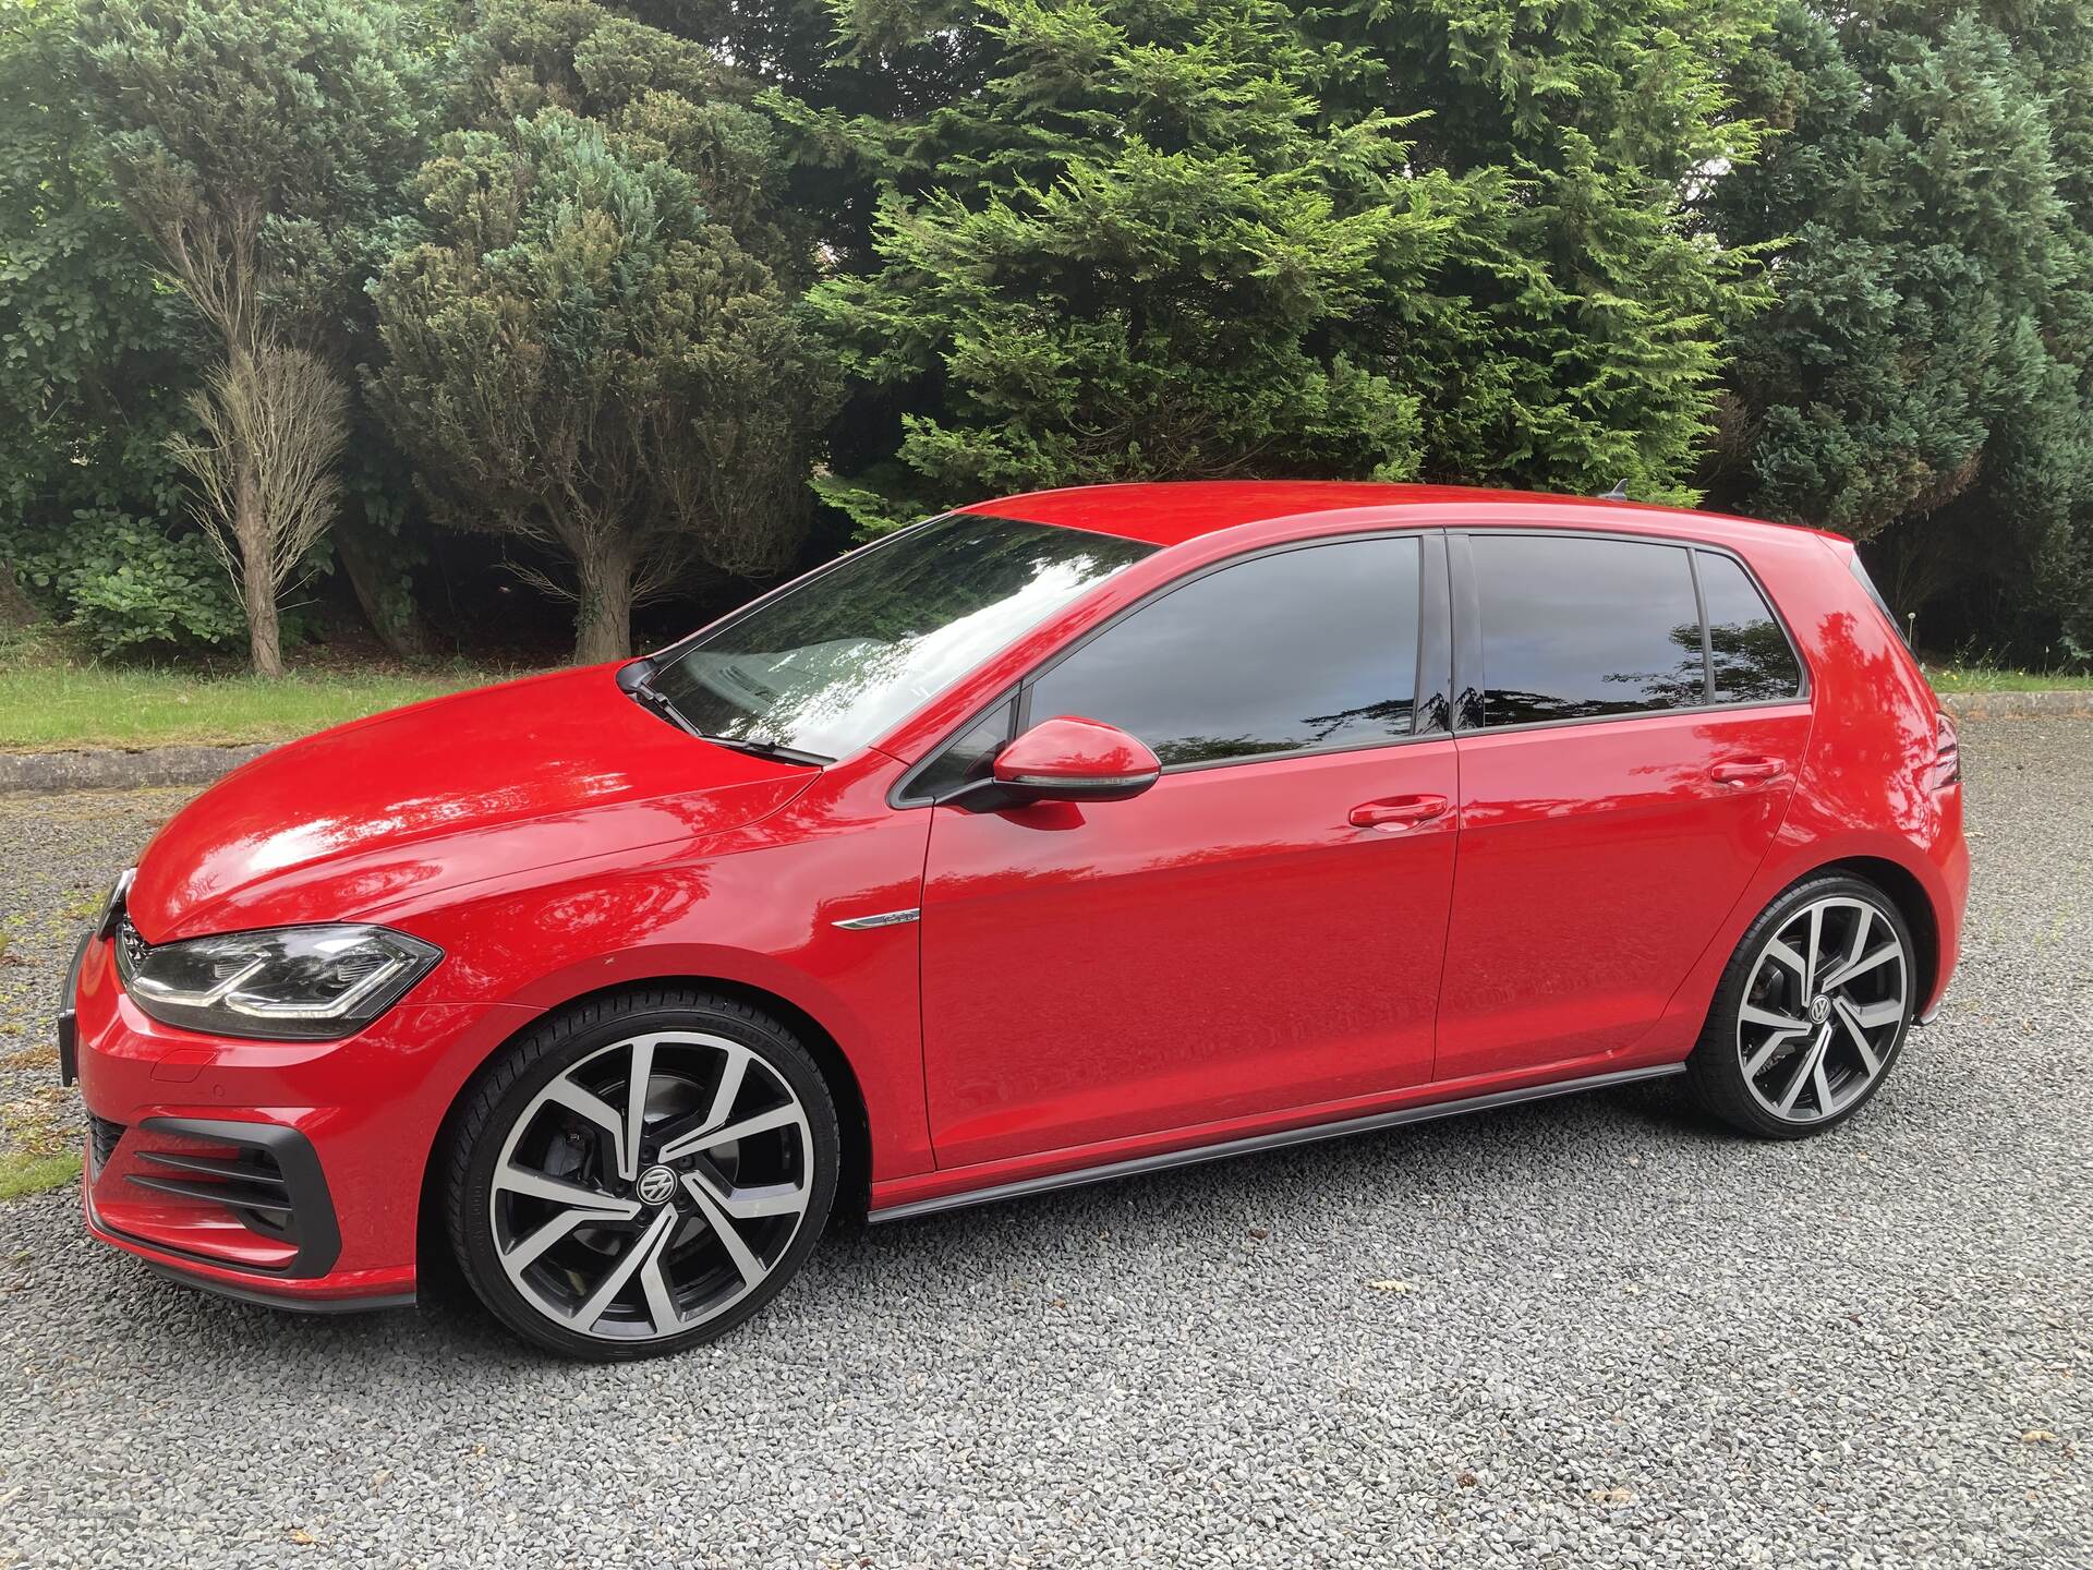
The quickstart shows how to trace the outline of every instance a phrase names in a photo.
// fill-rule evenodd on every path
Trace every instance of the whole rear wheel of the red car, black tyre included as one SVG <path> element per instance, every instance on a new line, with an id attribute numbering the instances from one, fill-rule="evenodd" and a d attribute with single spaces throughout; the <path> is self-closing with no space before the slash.
<path id="1" fill-rule="evenodd" d="M 1842 1124 L 1882 1089 L 1917 1007 L 1911 929 L 1859 877 L 1810 877 L 1737 944 L 1687 1072 L 1702 1105 L 1760 1139 Z"/>

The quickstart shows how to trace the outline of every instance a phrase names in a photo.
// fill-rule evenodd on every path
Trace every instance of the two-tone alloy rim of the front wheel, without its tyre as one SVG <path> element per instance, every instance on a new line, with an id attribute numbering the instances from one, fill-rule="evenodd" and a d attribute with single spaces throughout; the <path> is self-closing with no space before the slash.
<path id="1" fill-rule="evenodd" d="M 636 1034 L 561 1070 L 511 1124 L 488 1197 L 494 1252 L 557 1325 L 663 1340 L 770 1277 L 812 1164 L 806 1107 L 762 1053 Z"/>

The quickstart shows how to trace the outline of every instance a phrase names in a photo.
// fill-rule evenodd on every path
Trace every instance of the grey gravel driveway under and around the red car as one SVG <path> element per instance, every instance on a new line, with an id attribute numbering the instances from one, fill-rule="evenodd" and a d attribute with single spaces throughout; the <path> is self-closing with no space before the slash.
<path id="1" fill-rule="evenodd" d="M 1963 743 L 1961 980 L 1802 1145 L 1658 1084 L 871 1229 L 617 1369 L 0 1204 L 0 1564 L 2093 1566 L 2093 724 Z M 180 800 L 0 800 L 10 1139 Z"/>

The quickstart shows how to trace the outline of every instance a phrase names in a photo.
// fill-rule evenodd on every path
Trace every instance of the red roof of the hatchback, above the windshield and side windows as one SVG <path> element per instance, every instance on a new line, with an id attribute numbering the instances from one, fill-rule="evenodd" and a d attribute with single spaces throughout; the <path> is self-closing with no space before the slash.
<path id="1" fill-rule="evenodd" d="M 1605 530 L 1626 515 L 1668 513 L 1697 525 L 1739 523 L 1754 530 L 1790 528 L 1756 519 L 1700 513 L 1683 507 L 1624 502 L 1603 496 L 1547 496 L 1526 490 L 1482 490 L 1473 486 L 1383 486 L 1354 479 L 1168 479 L 1124 486 L 1070 486 L 1034 490 L 990 502 L 971 502 L 961 513 L 1009 517 L 1023 523 L 1057 523 L 1072 530 L 1116 534 L 1155 546 L 1185 544 L 1206 534 L 1245 523 L 1356 509 L 1505 509 L 1507 521 L 1547 515 L 1551 528 Z M 1819 534 L 1819 530 L 1808 530 Z"/>

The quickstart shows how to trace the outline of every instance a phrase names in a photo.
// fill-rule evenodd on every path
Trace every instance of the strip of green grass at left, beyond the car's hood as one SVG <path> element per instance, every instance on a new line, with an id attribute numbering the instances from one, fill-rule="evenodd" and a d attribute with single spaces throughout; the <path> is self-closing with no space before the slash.
<path id="1" fill-rule="evenodd" d="M 0 752 L 291 741 L 507 674 L 454 664 L 293 670 L 266 682 L 180 668 L 84 666 L 44 649 L 0 649 Z"/>

